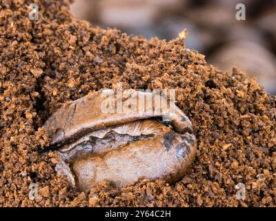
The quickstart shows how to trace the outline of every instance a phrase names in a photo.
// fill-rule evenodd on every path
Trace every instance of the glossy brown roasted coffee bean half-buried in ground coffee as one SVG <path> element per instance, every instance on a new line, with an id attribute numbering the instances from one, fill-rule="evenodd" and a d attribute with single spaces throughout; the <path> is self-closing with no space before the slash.
<path id="1" fill-rule="evenodd" d="M 195 158 L 197 141 L 184 113 L 175 108 L 172 126 L 159 122 L 154 113 L 102 113 L 100 91 L 72 102 L 44 124 L 56 146 L 66 174 L 83 191 L 105 179 L 121 187 L 141 177 L 176 182 Z M 141 93 L 141 92 L 139 92 Z M 139 94 L 124 99 L 134 102 Z M 164 111 L 165 112 L 165 111 Z"/>

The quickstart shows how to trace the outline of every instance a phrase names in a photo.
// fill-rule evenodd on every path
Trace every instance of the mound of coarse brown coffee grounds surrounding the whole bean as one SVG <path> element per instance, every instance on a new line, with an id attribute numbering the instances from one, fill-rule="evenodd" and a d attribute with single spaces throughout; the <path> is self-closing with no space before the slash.
<path id="1" fill-rule="evenodd" d="M 255 79 L 221 73 L 180 37 L 92 28 L 70 15 L 68 1 L 35 1 L 39 21 L 30 21 L 32 2 L 0 3 L 0 206 L 276 206 L 276 98 Z M 141 179 L 116 189 L 107 180 L 86 194 L 57 175 L 55 151 L 41 155 L 42 124 L 57 108 L 119 82 L 176 90 L 198 140 L 176 184 Z"/>

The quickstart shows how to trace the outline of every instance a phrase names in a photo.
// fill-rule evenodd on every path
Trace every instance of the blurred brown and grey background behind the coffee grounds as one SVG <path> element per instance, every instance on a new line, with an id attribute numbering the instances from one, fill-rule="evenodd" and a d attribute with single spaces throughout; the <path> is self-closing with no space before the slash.
<path id="1" fill-rule="evenodd" d="M 238 3 L 246 20 L 235 17 Z M 187 28 L 187 48 L 220 70 L 246 71 L 276 95 L 276 0 L 75 0 L 71 11 L 92 26 L 148 39 L 169 41 Z"/>

